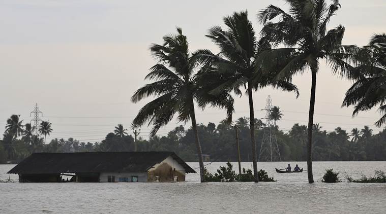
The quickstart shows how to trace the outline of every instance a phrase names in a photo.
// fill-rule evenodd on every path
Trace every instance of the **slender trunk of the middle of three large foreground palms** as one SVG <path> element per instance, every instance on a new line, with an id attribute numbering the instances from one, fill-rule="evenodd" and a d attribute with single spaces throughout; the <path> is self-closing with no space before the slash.
<path id="1" fill-rule="evenodd" d="M 248 99 L 249 99 L 249 129 L 251 132 L 251 144 L 252 144 L 252 162 L 253 162 L 253 175 L 255 176 L 255 182 L 259 182 L 259 176 L 257 174 L 257 154 L 256 154 L 256 142 L 255 142 L 255 115 L 253 112 L 253 97 L 252 88 L 248 84 Z"/>

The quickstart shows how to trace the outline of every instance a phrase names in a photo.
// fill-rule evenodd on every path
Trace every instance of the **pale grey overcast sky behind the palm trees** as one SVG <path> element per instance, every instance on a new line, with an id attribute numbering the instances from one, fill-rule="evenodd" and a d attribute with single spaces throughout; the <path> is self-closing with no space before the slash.
<path id="1" fill-rule="evenodd" d="M 341 0 L 342 8 L 329 29 L 345 26 L 345 45 L 366 45 L 374 33 L 386 32 L 384 0 Z M 204 35 L 222 18 L 248 10 L 257 32 L 256 14 L 273 4 L 287 8 L 284 1 L 101 1 L 101 0 L 0 0 L 0 126 L 12 114 L 30 122 L 38 103 L 43 120 L 52 123 L 52 138 L 74 137 L 96 142 L 123 124 L 130 124 L 138 110 L 151 98 L 132 103 L 130 97 L 146 83 L 145 75 L 156 61 L 150 56 L 152 43 L 162 43 L 165 34 L 182 27 L 190 50 L 206 48 L 217 52 Z M 265 88 L 254 93 L 256 118 L 264 118 L 266 98 L 284 114 L 277 124 L 287 132 L 294 123 L 307 124 L 311 75 L 295 76 L 300 90 L 294 93 Z M 324 130 L 340 126 L 347 132 L 373 124 L 376 109 L 352 118 L 352 108 L 341 108 L 344 93 L 352 82 L 333 75 L 320 61 L 317 76 L 314 122 Z M 248 116 L 247 96 L 235 97 L 234 120 Z M 197 122 L 218 123 L 225 111 L 196 110 Z M 159 130 L 166 135 L 175 126 L 191 124 L 171 121 Z M 149 138 L 151 127 L 141 127 L 140 137 Z"/>

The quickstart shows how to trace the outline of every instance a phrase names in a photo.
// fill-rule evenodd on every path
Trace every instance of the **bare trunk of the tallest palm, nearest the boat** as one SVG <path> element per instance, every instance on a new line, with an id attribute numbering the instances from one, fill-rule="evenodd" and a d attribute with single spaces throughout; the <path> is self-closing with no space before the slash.
<path id="1" fill-rule="evenodd" d="M 311 68 L 311 97 L 310 97 L 310 110 L 308 112 L 308 142 L 307 142 L 307 174 L 308 183 L 314 183 L 314 177 L 312 175 L 312 125 L 314 124 L 314 109 L 315 109 L 315 91 L 316 91 L 316 73 L 317 68 Z"/>

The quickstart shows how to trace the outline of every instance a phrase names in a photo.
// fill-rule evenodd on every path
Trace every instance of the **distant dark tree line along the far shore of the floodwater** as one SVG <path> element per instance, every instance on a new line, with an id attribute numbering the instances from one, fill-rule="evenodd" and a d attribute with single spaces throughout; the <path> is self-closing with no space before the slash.
<path id="1" fill-rule="evenodd" d="M 16 119 L 18 117 L 16 116 L 11 118 Z M 272 114 L 272 119 L 279 121 L 282 116 L 279 111 L 278 114 Z M 8 128 L 3 140 L 0 140 L 0 163 L 18 162 L 34 152 L 134 151 L 134 138 L 128 135 L 127 129 L 121 124 L 115 126 L 114 130 L 106 134 L 105 139 L 100 142 L 82 142 L 70 137 L 55 138 L 45 144 L 44 134 L 29 137 L 26 130 L 31 130 L 30 124 L 22 125 L 21 122 L 14 120 L 11 129 L 8 129 L 10 124 L 7 123 Z M 263 132 L 268 127 L 261 120 L 255 119 L 254 122 L 257 151 L 260 156 Z M 247 117 L 230 123 L 223 120 L 217 125 L 211 122 L 206 125 L 197 124 L 203 154 L 209 155 L 210 161 L 237 161 L 235 143 L 235 126 L 237 126 L 241 160 L 251 161 L 253 156 L 249 141 L 249 124 L 250 120 Z M 20 131 L 19 134 L 13 135 L 14 138 L 9 144 L 7 134 L 12 134 L 14 130 Z M 284 132 L 277 125 L 272 125 L 271 130 L 277 136 L 282 161 L 307 160 L 307 126 L 296 123 L 288 132 Z M 313 135 L 312 152 L 315 161 L 386 161 L 386 129 L 372 133 L 368 126 L 364 126 L 362 129 L 354 128 L 347 132 L 337 127 L 334 131 L 328 132 L 322 130 L 319 124 L 313 124 Z M 136 143 L 138 151 L 174 151 L 185 161 L 197 161 L 195 133 L 192 127 L 185 129 L 184 126 L 177 126 L 166 136 L 155 135 L 149 139 L 139 137 Z"/>

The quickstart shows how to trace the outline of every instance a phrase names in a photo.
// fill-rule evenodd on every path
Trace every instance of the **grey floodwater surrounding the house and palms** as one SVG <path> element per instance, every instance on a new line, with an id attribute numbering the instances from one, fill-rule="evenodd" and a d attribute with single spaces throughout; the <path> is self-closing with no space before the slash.
<path id="1" fill-rule="evenodd" d="M 232 164 L 238 172 L 237 163 Z M 188 174 L 180 183 L 0 183 L 0 213 L 386 213 L 386 184 L 344 179 L 345 173 L 360 178 L 386 171 L 386 162 L 313 162 L 314 184 L 307 183 L 306 172 L 275 172 L 287 164 L 258 163 L 277 182 L 257 184 L 200 184 L 199 174 Z M 306 169 L 305 162 L 297 164 Z M 215 172 L 225 165 L 206 167 Z M 13 166 L 0 165 L 0 180 L 9 178 L 6 172 Z M 320 182 L 328 168 L 341 172 L 341 183 Z M 17 181 L 17 175 L 10 179 Z"/>

